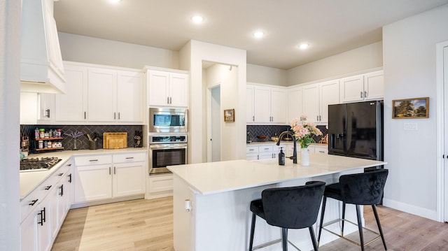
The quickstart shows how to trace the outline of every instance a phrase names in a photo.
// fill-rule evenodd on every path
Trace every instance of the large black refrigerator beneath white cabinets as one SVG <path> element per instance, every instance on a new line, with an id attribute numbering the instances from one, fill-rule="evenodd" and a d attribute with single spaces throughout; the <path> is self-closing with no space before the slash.
<path id="1" fill-rule="evenodd" d="M 384 160 L 383 101 L 328 106 L 328 154 Z"/>

